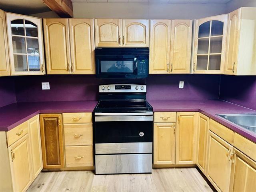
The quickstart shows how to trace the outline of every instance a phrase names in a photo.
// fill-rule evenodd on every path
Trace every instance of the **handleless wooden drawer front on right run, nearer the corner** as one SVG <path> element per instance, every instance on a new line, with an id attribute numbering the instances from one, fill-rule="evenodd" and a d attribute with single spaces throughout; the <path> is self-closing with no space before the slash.
<path id="1" fill-rule="evenodd" d="M 222 124 L 210 119 L 209 129 L 216 135 L 224 139 L 229 144 L 233 144 L 234 141 L 234 131 L 223 126 Z"/>

